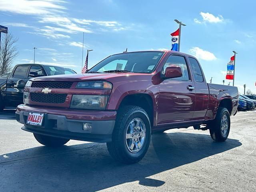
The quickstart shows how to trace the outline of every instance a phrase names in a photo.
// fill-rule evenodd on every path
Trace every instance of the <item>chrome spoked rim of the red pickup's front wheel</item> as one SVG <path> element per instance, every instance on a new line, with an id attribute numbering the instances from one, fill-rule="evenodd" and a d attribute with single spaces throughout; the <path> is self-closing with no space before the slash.
<path id="1" fill-rule="evenodd" d="M 126 147 L 132 153 L 138 152 L 146 139 L 146 127 L 140 118 L 134 118 L 126 128 Z"/>

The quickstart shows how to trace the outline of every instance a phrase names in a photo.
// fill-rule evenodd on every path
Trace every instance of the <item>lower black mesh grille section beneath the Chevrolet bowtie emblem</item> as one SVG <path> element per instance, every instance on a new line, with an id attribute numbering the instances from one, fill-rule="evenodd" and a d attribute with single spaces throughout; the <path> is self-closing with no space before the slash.
<path id="1" fill-rule="evenodd" d="M 30 93 L 31 101 L 38 103 L 60 104 L 65 102 L 67 96 L 68 94 Z"/>

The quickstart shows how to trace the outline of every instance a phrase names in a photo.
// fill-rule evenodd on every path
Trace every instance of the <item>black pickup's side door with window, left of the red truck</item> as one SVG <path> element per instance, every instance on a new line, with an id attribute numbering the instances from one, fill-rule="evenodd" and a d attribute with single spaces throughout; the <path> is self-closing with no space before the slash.
<path id="1" fill-rule="evenodd" d="M 23 103 L 23 90 L 28 81 L 30 65 L 18 65 L 7 80 L 6 96 L 9 101 Z"/>

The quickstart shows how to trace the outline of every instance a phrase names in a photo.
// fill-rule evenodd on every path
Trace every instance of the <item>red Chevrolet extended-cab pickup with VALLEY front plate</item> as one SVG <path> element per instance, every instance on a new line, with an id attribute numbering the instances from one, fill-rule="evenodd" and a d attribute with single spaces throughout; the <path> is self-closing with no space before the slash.
<path id="1" fill-rule="evenodd" d="M 206 83 L 195 57 L 141 51 L 109 56 L 85 74 L 29 80 L 16 119 L 45 146 L 106 142 L 114 159 L 130 164 L 144 157 L 152 133 L 172 128 L 194 126 L 225 141 L 237 106 L 238 89 Z"/>

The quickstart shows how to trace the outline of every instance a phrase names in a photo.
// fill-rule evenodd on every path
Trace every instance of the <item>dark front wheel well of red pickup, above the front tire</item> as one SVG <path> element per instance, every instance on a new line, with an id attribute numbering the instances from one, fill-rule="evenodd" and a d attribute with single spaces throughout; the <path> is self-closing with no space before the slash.
<path id="1" fill-rule="evenodd" d="M 154 125 L 154 108 L 153 101 L 150 95 L 144 93 L 127 95 L 123 98 L 118 109 L 126 105 L 135 105 L 143 108 L 147 112 L 148 117 L 150 118 L 151 125 Z"/>

